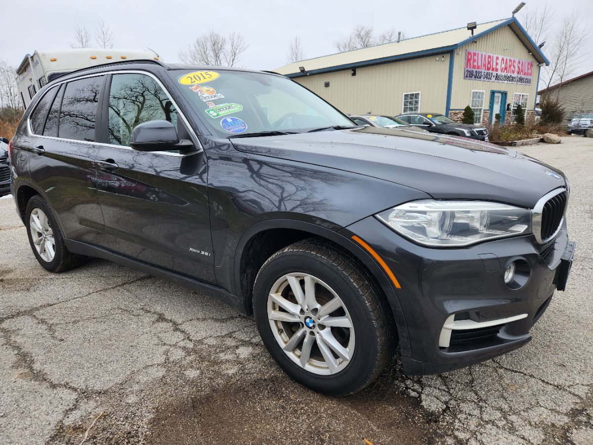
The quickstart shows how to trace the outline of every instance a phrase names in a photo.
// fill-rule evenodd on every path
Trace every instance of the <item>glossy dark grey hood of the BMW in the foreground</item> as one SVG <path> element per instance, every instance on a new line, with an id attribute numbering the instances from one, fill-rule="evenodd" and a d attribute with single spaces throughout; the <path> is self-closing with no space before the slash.
<path id="1" fill-rule="evenodd" d="M 366 127 L 231 141 L 239 151 L 363 174 L 436 199 L 487 199 L 533 208 L 547 192 L 565 186 L 562 171 L 533 158 L 433 133 Z"/>

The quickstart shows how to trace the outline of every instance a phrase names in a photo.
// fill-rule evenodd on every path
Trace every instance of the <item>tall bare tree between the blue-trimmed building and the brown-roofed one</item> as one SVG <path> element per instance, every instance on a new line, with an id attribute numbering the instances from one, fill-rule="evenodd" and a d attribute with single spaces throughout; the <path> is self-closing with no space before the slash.
<path id="1" fill-rule="evenodd" d="M 543 68 L 541 72 L 546 88 L 564 82 L 575 74 L 589 55 L 589 36 L 591 27 L 584 23 L 579 12 L 574 11 L 564 18 L 548 51 L 550 66 Z M 560 88 L 557 88 L 557 93 L 560 93 Z"/>

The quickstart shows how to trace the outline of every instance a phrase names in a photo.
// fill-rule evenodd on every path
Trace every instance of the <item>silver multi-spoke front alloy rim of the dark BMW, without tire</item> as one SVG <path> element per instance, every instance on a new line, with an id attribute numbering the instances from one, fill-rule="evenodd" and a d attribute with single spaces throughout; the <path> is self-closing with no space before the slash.
<path id="1" fill-rule="evenodd" d="M 272 286 L 267 317 L 280 348 L 314 374 L 342 371 L 352 359 L 355 338 L 342 299 L 313 275 L 287 274 Z"/>

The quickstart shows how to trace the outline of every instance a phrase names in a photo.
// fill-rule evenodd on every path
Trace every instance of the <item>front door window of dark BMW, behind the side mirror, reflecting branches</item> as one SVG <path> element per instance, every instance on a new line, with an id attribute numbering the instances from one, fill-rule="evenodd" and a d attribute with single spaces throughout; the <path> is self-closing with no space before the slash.
<path id="1" fill-rule="evenodd" d="M 109 144 L 128 147 L 136 125 L 157 119 L 177 126 L 177 110 L 157 81 L 144 74 L 111 77 Z"/>

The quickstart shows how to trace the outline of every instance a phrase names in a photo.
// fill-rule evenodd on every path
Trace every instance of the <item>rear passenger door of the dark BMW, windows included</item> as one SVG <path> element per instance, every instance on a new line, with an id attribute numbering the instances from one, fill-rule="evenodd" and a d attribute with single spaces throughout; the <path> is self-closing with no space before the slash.
<path id="1" fill-rule="evenodd" d="M 45 194 L 67 239 L 104 245 L 94 185 L 97 113 L 104 75 L 51 88 L 29 118 L 30 179 Z"/>

